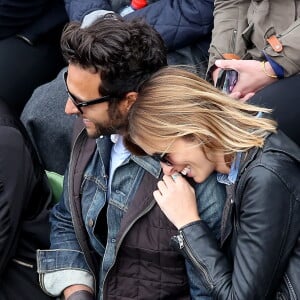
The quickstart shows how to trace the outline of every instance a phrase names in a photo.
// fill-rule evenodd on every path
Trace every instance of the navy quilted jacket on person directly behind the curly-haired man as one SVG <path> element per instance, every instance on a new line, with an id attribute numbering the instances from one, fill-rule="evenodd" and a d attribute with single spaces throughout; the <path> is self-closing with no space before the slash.
<path id="1" fill-rule="evenodd" d="M 99 9 L 119 10 L 128 0 L 65 0 L 70 20 L 83 17 Z M 213 28 L 213 0 L 159 0 L 149 1 L 143 9 L 128 14 L 126 18 L 143 17 L 164 39 L 168 50 L 207 40 Z"/>

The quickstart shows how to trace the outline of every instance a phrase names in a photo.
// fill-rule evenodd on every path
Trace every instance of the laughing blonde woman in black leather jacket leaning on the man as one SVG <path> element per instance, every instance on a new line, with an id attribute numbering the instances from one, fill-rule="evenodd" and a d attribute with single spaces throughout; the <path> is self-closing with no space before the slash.
<path id="1" fill-rule="evenodd" d="M 176 68 L 148 80 L 130 111 L 128 147 L 161 161 L 154 197 L 214 299 L 300 299 L 300 150 L 267 113 Z M 185 178 L 213 172 L 228 196 L 220 244 Z"/>

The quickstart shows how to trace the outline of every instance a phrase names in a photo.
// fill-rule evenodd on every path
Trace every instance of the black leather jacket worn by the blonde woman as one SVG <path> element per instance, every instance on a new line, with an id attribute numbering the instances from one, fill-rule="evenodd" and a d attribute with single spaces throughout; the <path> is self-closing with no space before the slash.
<path id="1" fill-rule="evenodd" d="M 214 299 L 300 299 L 300 148 L 283 133 L 243 156 L 221 248 L 201 221 L 173 237 Z"/>

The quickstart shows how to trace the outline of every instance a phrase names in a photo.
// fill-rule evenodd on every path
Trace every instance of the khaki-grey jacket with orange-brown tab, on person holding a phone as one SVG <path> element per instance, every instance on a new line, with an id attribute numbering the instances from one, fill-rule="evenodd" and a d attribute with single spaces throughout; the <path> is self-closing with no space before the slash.
<path id="1" fill-rule="evenodd" d="M 263 51 L 284 68 L 284 76 L 300 70 L 299 0 L 216 0 L 209 69 L 216 59 L 235 54 L 264 60 Z M 267 41 L 276 36 L 282 50 Z"/>

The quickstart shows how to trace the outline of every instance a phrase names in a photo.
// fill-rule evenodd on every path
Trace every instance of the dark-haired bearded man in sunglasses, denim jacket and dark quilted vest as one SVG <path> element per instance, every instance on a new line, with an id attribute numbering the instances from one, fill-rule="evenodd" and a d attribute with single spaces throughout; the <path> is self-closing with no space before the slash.
<path id="1" fill-rule="evenodd" d="M 61 43 L 65 111 L 78 121 L 51 249 L 38 251 L 41 286 L 67 300 L 210 299 L 197 270 L 170 247 L 176 228 L 152 196 L 159 162 L 123 145 L 139 85 L 167 64 L 163 40 L 145 22 L 108 13 L 88 27 L 70 23 Z M 224 187 L 214 174 L 193 187 L 217 238 Z"/>

